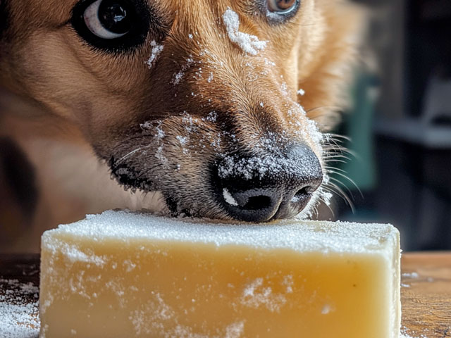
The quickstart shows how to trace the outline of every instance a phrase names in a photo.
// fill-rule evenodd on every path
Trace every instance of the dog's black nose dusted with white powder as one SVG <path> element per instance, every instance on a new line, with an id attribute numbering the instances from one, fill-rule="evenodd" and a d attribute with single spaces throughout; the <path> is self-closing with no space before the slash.
<path id="1" fill-rule="evenodd" d="M 319 159 L 305 145 L 281 153 L 235 153 L 218 163 L 218 199 L 233 218 L 265 222 L 297 215 L 307 206 L 323 180 Z"/>

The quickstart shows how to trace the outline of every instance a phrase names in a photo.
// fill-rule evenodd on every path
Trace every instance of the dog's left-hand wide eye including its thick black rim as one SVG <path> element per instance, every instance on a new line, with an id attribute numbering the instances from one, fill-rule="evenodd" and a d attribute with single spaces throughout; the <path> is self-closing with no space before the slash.
<path id="1" fill-rule="evenodd" d="M 73 9 L 72 25 L 93 46 L 129 49 L 146 39 L 149 9 L 136 0 L 81 1 Z"/>

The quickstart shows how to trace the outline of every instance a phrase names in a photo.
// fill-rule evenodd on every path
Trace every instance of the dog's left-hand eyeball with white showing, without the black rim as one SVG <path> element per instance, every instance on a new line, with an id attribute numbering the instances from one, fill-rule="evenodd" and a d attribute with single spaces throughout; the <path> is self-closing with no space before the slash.
<path id="1" fill-rule="evenodd" d="M 97 0 L 87 6 L 86 27 L 101 39 L 117 39 L 130 31 L 129 9 L 116 0 Z"/>

